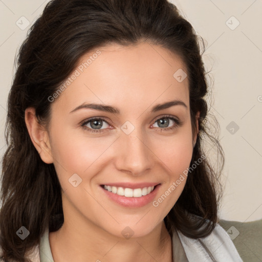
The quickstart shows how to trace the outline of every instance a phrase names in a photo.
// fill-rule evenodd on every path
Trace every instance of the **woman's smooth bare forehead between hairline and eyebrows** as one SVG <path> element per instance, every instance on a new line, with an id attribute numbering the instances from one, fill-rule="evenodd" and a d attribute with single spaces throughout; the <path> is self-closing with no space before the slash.
<path id="1" fill-rule="evenodd" d="M 145 110 L 154 101 L 180 99 L 189 106 L 188 79 L 178 81 L 177 72 L 186 73 L 183 61 L 160 46 L 108 45 L 79 59 L 58 103 L 67 111 L 83 102 L 118 104 L 127 110 L 142 103 Z"/>

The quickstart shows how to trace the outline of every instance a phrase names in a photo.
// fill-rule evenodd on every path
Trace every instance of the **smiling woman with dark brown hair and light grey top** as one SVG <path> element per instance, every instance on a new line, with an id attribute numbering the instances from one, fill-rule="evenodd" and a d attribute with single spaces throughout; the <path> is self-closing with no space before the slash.
<path id="1" fill-rule="evenodd" d="M 242 261 L 217 224 L 192 26 L 165 0 L 53 0 L 8 98 L 4 261 Z"/>

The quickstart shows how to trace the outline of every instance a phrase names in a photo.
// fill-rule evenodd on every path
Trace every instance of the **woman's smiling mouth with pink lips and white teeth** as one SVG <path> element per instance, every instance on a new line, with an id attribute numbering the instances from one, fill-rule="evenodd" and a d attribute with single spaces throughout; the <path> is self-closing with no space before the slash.
<path id="1" fill-rule="evenodd" d="M 123 207 L 138 208 L 154 201 L 161 184 L 106 184 L 100 185 L 103 195 Z"/>

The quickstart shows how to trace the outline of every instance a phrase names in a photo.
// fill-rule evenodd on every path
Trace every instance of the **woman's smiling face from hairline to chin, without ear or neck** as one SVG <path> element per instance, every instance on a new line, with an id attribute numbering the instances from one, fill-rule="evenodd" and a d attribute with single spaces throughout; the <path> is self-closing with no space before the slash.
<path id="1" fill-rule="evenodd" d="M 81 58 L 51 102 L 49 142 L 65 221 L 121 237 L 145 235 L 163 221 L 192 157 L 184 72 L 178 56 L 148 43 Z"/>

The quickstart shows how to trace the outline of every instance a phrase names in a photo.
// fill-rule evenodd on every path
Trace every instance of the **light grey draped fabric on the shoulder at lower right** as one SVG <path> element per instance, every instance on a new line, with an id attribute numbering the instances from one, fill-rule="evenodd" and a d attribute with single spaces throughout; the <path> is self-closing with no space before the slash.
<path id="1" fill-rule="evenodd" d="M 181 243 L 189 261 L 243 262 L 227 232 L 216 224 L 206 237 L 187 237 L 178 230 Z"/>

